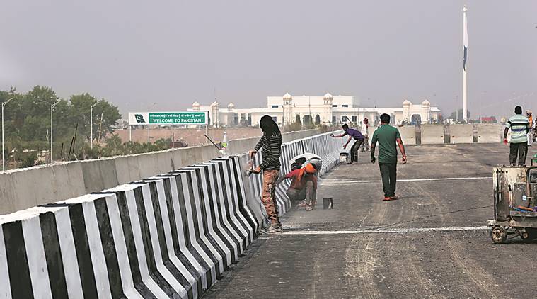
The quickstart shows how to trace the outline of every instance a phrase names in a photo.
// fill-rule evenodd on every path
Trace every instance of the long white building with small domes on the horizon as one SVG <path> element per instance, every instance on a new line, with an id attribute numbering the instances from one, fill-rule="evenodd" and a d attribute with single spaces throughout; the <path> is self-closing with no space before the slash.
<path id="1" fill-rule="evenodd" d="M 211 125 L 225 127 L 257 125 L 263 115 L 272 116 L 279 125 L 289 125 L 296 120 L 300 120 L 302 124 L 359 124 L 364 118 L 368 118 L 374 125 L 382 113 L 391 115 L 392 123 L 397 125 L 435 123 L 441 115 L 439 108 L 431 106 L 427 100 L 419 104 L 405 100 L 401 107 L 395 108 L 368 108 L 361 107 L 354 96 L 333 96 L 330 93 L 324 96 L 291 96 L 288 93 L 283 96 L 268 96 L 266 108 L 235 108 L 233 103 L 221 108 L 218 102 L 210 106 L 200 106 L 200 103 L 195 102 L 188 111 L 208 111 Z"/>

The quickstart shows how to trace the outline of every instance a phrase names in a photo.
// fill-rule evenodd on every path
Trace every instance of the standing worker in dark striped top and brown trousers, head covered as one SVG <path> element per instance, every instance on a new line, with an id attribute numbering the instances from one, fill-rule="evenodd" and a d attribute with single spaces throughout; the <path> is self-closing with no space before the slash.
<path id="1" fill-rule="evenodd" d="M 262 148 L 262 163 L 253 172 L 259 174 L 262 171 L 262 202 L 270 219 L 269 233 L 282 232 L 282 224 L 279 222 L 278 205 L 276 203 L 275 188 L 279 176 L 279 159 L 282 156 L 282 133 L 279 132 L 277 123 L 269 115 L 265 115 L 259 122 L 263 132 L 254 150 L 248 152 L 250 157 Z"/>

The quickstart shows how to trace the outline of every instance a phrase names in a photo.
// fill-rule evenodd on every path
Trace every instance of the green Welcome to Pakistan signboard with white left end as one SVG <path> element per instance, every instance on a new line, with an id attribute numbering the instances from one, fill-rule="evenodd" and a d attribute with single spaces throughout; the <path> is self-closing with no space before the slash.
<path id="1" fill-rule="evenodd" d="M 130 125 L 207 125 L 207 111 L 131 112 Z"/>

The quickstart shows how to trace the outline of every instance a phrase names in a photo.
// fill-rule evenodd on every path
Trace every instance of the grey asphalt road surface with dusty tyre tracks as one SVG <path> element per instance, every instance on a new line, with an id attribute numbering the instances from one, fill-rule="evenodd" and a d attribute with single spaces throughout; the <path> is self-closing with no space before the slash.
<path id="1" fill-rule="evenodd" d="M 381 201 L 378 165 L 361 154 L 322 179 L 317 210 L 287 213 L 285 232 L 256 239 L 204 298 L 536 298 L 537 242 L 492 244 L 483 227 L 508 147 L 407 152 L 400 200 Z M 326 196 L 334 210 L 322 209 Z"/>

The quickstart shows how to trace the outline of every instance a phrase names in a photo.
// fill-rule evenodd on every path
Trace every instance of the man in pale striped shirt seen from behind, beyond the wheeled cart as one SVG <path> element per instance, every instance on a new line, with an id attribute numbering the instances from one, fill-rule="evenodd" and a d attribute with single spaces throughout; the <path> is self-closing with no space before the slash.
<path id="1" fill-rule="evenodd" d="M 509 145 L 509 162 L 516 165 L 516 157 L 519 157 L 519 165 L 526 165 L 528 153 L 528 132 L 531 128 L 528 118 L 522 115 L 522 107 L 514 108 L 514 115 L 505 123 L 504 144 L 507 145 L 507 132 L 511 129 L 511 144 Z"/>

